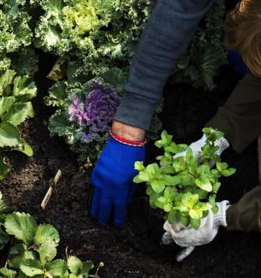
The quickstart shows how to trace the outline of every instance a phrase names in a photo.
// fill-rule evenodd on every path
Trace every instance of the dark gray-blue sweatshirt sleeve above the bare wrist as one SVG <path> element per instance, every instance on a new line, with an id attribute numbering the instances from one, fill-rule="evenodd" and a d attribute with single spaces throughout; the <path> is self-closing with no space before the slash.
<path id="1" fill-rule="evenodd" d="M 114 120 L 150 129 L 166 80 L 213 2 L 157 0 L 132 60 Z"/>

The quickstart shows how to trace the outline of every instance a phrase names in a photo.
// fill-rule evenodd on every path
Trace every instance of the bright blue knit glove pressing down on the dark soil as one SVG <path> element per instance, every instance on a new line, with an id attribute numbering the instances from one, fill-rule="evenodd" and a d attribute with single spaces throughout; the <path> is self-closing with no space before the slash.
<path id="1" fill-rule="evenodd" d="M 144 161 L 145 146 L 132 147 L 113 138 L 104 147 L 97 161 L 90 183 L 94 186 L 90 215 L 106 225 L 114 213 L 114 224 L 121 227 L 126 215 L 126 206 L 132 201 L 136 184 L 133 178 L 136 161 Z"/>

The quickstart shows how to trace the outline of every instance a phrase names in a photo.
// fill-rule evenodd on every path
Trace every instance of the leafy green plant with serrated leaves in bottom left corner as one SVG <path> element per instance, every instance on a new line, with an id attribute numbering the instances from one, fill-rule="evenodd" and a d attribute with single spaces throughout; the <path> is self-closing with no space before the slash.
<path id="1" fill-rule="evenodd" d="M 3 228 L 3 229 L 2 229 Z M 3 202 L 0 193 L 0 250 L 10 241 L 7 263 L 0 268 L 0 277 L 35 278 L 100 278 L 95 274 L 92 261 L 82 262 L 76 256 L 68 256 L 67 261 L 56 259 L 60 236 L 51 224 L 37 226 L 28 213 L 13 213 Z"/>

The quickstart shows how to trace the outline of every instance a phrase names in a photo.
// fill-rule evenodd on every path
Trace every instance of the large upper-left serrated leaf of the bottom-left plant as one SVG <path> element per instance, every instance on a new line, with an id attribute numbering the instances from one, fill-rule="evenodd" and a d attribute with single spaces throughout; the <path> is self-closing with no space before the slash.
<path id="1" fill-rule="evenodd" d="M 33 217 L 27 213 L 12 213 L 6 217 L 6 232 L 22 240 L 26 244 L 33 243 L 36 231 L 36 223 Z"/>

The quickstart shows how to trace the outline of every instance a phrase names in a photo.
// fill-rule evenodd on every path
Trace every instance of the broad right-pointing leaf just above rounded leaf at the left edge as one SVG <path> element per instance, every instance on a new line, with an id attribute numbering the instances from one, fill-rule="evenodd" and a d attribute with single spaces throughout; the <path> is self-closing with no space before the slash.
<path id="1" fill-rule="evenodd" d="M 18 126 L 28 117 L 33 117 L 33 106 L 31 102 L 13 104 L 8 112 L 3 115 L 4 122 L 10 122 L 14 126 Z"/>

